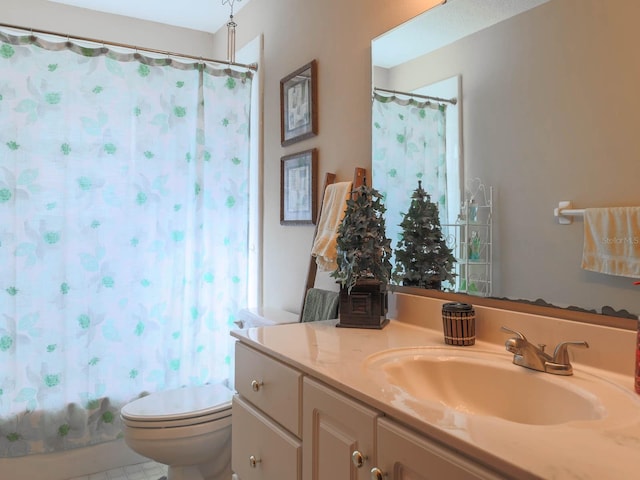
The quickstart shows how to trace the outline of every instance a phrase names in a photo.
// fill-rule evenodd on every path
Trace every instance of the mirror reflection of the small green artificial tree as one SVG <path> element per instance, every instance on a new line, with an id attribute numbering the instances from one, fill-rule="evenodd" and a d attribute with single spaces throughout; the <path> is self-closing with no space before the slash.
<path id="1" fill-rule="evenodd" d="M 401 238 L 395 250 L 393 278 L 404 285 L 440 289 L 443 281 L 454 282 L 455 257 L 447 246 L 438 215 L 438 205 L 418 181 L 409 211 L 402 214 Z"/>

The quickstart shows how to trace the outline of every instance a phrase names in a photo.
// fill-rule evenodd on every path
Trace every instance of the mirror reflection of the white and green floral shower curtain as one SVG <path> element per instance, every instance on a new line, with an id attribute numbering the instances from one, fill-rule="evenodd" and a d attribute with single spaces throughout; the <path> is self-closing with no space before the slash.
<path id="1" fill-rule="evenodd" d="M 438 204 L 441 223 L 447 223 L 446 105 L 373 95 L 373 185 L 384 196 L 387 236 L 395 249 L 401 213 L 407 213 L 411 194 L 422 181 Z"/>

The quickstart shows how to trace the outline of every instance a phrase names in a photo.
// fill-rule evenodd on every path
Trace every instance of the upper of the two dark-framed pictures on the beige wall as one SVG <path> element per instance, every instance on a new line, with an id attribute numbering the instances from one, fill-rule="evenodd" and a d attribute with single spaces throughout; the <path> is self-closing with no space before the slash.
<path id="1" fill-rule="evenodd" d="M 280 80 L 282 146 L 318 133 L 317 66 L 312 60 Z"/>

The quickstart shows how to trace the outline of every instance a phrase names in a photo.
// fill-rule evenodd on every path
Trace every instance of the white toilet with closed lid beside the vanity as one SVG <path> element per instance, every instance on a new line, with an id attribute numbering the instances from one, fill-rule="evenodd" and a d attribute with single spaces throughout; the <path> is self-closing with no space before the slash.
<path id="1" fill-rule="evenodd" d="M 169 466 L 168 480 L 231 478 L 231 398 L 223 384 L 157 392 L 120 411 L 133 451 Z"/>

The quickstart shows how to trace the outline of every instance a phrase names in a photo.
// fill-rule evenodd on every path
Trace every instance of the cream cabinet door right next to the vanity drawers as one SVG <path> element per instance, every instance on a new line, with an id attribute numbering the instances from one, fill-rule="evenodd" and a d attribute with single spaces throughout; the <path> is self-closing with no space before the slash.
<path id="1" fill-rule="evenodd" d="M 378 412 L 305 377 L 302 478 L 369 480 L 375 465 L 377 416 Z"/>

